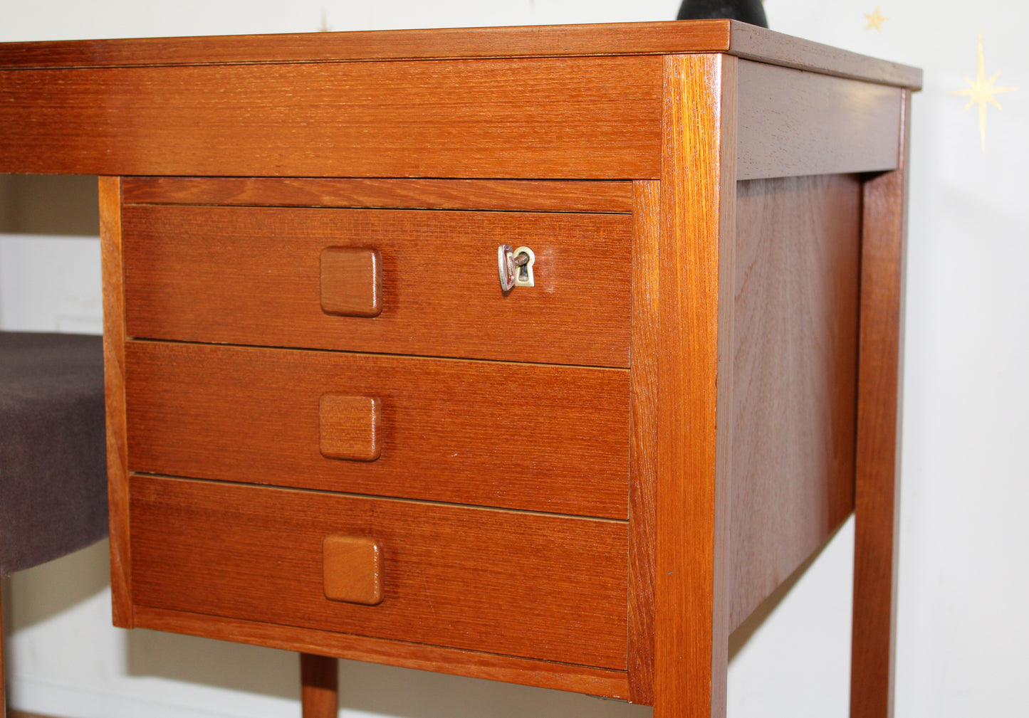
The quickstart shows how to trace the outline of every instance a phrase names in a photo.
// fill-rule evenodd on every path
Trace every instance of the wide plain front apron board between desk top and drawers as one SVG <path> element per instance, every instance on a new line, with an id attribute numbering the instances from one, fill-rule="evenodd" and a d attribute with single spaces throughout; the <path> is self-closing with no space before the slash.
<path id="1" fill-rule="evenodd" d="M 655 177 L 660 94 L 647 57 L 2 72 L 0 171 Z"/>

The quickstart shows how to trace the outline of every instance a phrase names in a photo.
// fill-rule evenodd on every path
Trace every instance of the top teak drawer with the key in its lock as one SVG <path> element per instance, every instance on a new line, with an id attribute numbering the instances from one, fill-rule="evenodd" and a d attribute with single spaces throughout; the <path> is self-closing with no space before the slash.
<path id="1" fill-rule="evenodd" d="M 121 227 L 129 336 L 629 365 L 630 215 L 130 205 Z M 500 245 L 535 286 L 501 290 Z"/>

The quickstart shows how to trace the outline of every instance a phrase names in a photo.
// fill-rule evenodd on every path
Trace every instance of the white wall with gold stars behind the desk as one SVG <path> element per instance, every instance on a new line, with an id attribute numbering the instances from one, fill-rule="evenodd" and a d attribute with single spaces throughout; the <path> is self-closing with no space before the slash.
<path id="1" fill-rule="evenodd" d="M 864 30 L 879 2 L 883 32 Z M 0 0 L 0 41 L 663 20 L 676 0 Z M 768 0 L 773 28 L 926 70 L 914 106 L 899 718 L 1025 716 L 1029 675 L 1029 9 L 1013 0 Z M 967 98 L 982 28 L 998 95 L 986 152 Z M 0 185 L 2 192 L 2 185 Z M 0 194 L 2 201 L 2 194 Z M 2 206 L 2 202 L 0 202 Z M 96 240 L 0 240 L 0 327 L 99 322 Z M 848 524 L 761 621 L 734 635 L 730 716 L 843 717 Z M 109 626 L 106 546 L 9 580 L 11 699 L 69 718 L 298 715 L 295 657 Z M 649 710 L 586 696 L 345 662 L 343 715 L 600 716 Z"/>

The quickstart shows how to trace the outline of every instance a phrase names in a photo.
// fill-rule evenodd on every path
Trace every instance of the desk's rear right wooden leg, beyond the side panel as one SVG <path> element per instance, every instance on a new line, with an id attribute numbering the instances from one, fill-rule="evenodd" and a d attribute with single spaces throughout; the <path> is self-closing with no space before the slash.
<path id="1" fill-rule="evenodd" d="M 854 507 L 853 718 L 893 715 L 910 102 L 908 93 L 900 168 L 864 185 Z"/>

